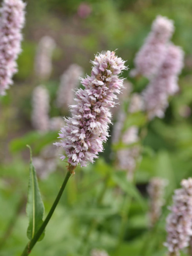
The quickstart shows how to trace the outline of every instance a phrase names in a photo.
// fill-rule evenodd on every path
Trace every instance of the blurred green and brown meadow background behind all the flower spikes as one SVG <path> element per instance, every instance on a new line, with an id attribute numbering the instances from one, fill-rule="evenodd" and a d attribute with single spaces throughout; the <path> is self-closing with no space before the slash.
<path id="1" fill-rule="evenodd" d="M 107 49 L 117 49 L 117 55 L 128 60 L 131 69 L 135 53 L 157 15 L 175 21 L 172 41 L 183 48 L 185 67 L 179 79 L 180 92 L 170 99 L 165 118 L 155 118 L 146 127 L 142 160 L 135 174 L 137 189 L 126 181 L 124 173 L 116 172 L 109 140 L 105 144 L 105 152 L 100 154 L 94 165 L 76 168 L 76 175 L 67 184 L 46 228 L 44 240 L 36 244 L 31 255 L 78 256 L 83 255 L 78 250 L 84 247 L 86 256 L 92 248 L 105 249 L 110 256 L 165 256 L 163 242 L 166 239 L 167 206 L 171 204 L 173 191 L 179 187 L 180 180 L 192 174 L 192 115 L 180 115 L 182 106 L 192 108 L 192 1 L 87 0 L 92 12 L 86 19 L 77 15 L 80 0 L 26 2 L 19 72 L 15 75 L 14 86 L 0 99 L 0 256 L 19 256 L 28 241 L 25 202 L 29 150 L 26 144 L 31 145 L 35 156 L 57 138 L 57 132 L 38 134 L 31 125 L 31 93 L 38 85 L 34 79 L 38 41 L 42 36 L 50 35 L 57 44 L 52 76 L 45 86 L 51 98 L 50 116 L 62 116 L 56 108 L 55 95 L 64 70 L 77 63 L 89 74 L 90 59 Z M 123 76 L 134 84 L 134 92 L 140 92 L 148 83 L 146 79 L 129 78 L 128 71 Z M 141 116 L 130 116 L 130 120 L 142 126 Z M 59 160 L 57 171 L 47 179 L 39 180 L 45 215 L 58 193 L 65 172 L 65 163 Z M 150 230 L 146 186 L 154 176 L 168 179 L 169 185 L 166 187 L 163 215 L 157 226 Z M 102 194 L 105 184 L 107 189 Z M 102 200 L 98 203 L 100 196 Z M 122 206 L 127 198 L 130 204 L 124 211 Z M 119 244 L 121 217 L 125 215 L 125 236 Z M 85 243 L 84 236 L 93 223 L 96 223 L 95 228 Z M 6 239 L 2 240 L 3 237 Z"/>

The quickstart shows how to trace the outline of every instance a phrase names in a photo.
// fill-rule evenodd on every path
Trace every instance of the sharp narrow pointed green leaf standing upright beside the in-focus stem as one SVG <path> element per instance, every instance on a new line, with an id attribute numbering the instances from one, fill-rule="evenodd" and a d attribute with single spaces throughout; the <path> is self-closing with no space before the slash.
<path id="1" fill-rule="evenodd" d="M 30 149 L 30 174 L 29 174 L 29 185 L 28 185 L 28 196 L 27 196 L 27 205 L 26 213 L 29 218 L 29 226 L 27 229 L 27 237 L 31 240 L 38 229 L 43 223 L 44 216 L 44 204 L 41 199 L 41 194 L 38 187 L 38 180 L 35 172 L 35 168 L 32 165 L 32 150 Z M 44 233 L 41 235 L 39 241 L 44 238 Z"/>

